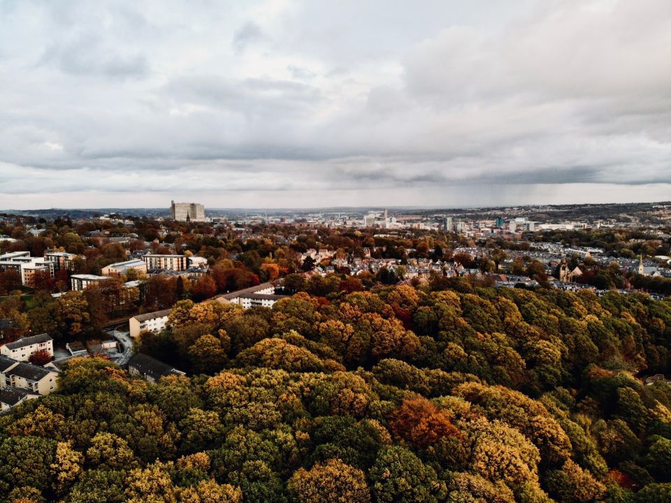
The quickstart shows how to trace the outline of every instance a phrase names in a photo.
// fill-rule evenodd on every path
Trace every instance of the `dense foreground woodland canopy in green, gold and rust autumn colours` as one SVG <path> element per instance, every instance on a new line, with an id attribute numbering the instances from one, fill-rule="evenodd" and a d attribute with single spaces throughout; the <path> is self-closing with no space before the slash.
<path id="1" fill-rule="evenodd" d="M 671 303 L 475 288 L 178 302 L 0 417 L 1 502 L 671 502 Z"/>

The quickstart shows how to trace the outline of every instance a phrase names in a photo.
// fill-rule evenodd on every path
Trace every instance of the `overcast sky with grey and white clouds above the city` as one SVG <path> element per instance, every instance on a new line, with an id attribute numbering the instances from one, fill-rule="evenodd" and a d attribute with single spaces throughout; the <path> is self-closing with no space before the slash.
<path id="1" fill-rule="evenodd" d="M 671 200 L 669 0 L 0 0 L 0 208 Z"/>

